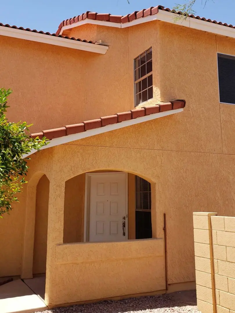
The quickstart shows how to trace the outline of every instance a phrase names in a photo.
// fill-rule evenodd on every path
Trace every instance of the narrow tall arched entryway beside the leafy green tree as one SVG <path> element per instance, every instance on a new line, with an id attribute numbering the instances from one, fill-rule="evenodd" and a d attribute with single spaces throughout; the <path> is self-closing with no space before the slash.
<path id="1" fill-rule="evenodd" d="M 27 187 L 21 278 L 35 294 L 44 299 L 50 181 L 45 174 L 36 173 Z"/>

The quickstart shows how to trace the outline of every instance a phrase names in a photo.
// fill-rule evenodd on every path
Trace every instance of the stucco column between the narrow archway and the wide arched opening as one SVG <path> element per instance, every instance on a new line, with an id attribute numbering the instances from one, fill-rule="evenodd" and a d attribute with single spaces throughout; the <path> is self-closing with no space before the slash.
<path id="1" fill-rule="evenodd" d="M 47 233 L 47 261 L 46 261 L 46 289 L 45 303 L 53 303 L 53 295 L 56 292 L 56 255 L 55 247 L 63 243 L 64 230 L 64 198 L 65 181 L 59 178 L 50 180 L 49 204 L 48 204 L 48 233 Z"/>

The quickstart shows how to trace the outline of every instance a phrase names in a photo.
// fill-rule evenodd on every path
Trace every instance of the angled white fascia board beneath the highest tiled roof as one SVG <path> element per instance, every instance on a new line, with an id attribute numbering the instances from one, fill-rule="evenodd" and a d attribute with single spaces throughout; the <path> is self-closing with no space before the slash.
<path id="1" fill-rule="evenodd" d="M 131 22 L 123 23 L 123 24 L 122 23 L 111 23 L 111 22 L 85 19 L 83 21 L 80 21 L 80 22 L 77 22 L 77 23 L 74 23 L 71 25 L 63 26 L 61 28 L 60 34 L 65 29 L 77 27 L 77 26 L 80 26 L 83 24 L 96 24 L 96 25 L 109 26 L 109 27 L 126 28 L 126 27 L 131 27 L 134 25 L 138 25 L 138 24 L 142 24 L 142 23 L 146 23 L 146 22 L 150 22 L 150 21 L 154 21 L 154 20 L 155 21 L 159 20 L 159 21 L 163 21 L 163 22 L 167 22 L 167 23 L 173 23 L 175 25 L 180 25 L 180 26 L 185 26 L 185 27 L 192 28 L 192 29 L 201 30 L 201 31 L 208 32 L 208 33 L 213 33 L 213 34 L 217 34 L 217 35 L 221 35 L 221 36 L 235 38 L 235 28 L 202 21 L 202 20 L 196 19 L 196 18 L 186 18 L 186 19 L 182 18 L 181 20 L 176 22 L 175 18 L 179 18 L 179 14 L 159 10 L 157 14 L 149 15 L 149 16 L 146 16 L 144 18 L 138 18 L 138 19 L 135 19 Z"/>

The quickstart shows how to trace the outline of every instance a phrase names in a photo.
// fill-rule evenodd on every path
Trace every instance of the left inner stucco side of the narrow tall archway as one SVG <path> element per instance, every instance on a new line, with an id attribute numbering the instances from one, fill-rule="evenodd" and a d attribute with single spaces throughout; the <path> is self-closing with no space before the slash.
<path id="1" fill-rule="evenodd" d="M 36 194 L 38 182 L 44 175 L 46 174 L 42 171 L 33 173 L 26 187 L 27 201 L 25 208 L 24 241 L 22 250 L 22 279 L 33 277 Z"/>

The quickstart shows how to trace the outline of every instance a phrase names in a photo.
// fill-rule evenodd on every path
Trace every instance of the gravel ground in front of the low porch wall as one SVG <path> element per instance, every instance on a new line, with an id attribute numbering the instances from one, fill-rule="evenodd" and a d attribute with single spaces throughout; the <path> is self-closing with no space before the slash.
<path id="1" fill-rule="evenodd" d="M 196 292 L 182 291 L 168 295 L 102 301 L 66 308 L 45 310 L 42 313 L 199 313 Z"/>

